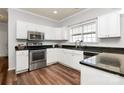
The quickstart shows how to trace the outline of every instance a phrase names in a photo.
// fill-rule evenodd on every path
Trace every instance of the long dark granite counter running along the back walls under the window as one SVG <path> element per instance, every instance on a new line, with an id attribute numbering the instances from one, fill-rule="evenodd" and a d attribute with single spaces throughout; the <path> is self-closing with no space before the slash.
<path id="1" fill-rule="evenodd" d="M 15 49 L 18 50 L 30 50 L 34 47 L 27 47 L 25 46 L 23 49 L 18 49 L 18 47 L 15 47 Z M 35 47 L 35 49 L 42 49 L 42 48 L 53 48 L 53 45 L 42 45 Z M 55 45 L 55 48 L 63 48 L 63 49 L 71 49 L 71 50 L 79 50 L 79 51 L 90 51 L 90 52 L 107 52 L 107 53 L 119 53 L 124 54 L 124 48 L 115 48 L 115 47 L 97 47 L 97 46 L 82 46 L 75 48 L 74 45 L 62 45 L 59 47 L 58 45 Z"/>

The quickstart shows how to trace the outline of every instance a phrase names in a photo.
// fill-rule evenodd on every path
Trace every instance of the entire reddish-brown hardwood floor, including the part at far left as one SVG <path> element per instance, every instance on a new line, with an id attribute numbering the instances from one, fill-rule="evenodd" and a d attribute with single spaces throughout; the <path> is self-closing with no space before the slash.
<path id="1" fill-rule="evenodd" d="M 8 71 L 8 59 L 0 58 L 0 85 L 79 85 L 80 72 L 56 63 L 16 75 Z"/>

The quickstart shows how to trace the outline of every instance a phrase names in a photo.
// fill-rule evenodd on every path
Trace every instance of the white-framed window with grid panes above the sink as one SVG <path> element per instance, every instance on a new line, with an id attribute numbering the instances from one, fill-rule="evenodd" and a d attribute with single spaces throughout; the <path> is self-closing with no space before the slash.
<path id="1" fill-rule="evenodd" d="M 83 40 L 83 42 L 97 42 L 96 31 L 96 20 L 83 23 L 80 26 L 71 27 L 69 29 L 70 42 L 75 42 L 77 40 Z"/>

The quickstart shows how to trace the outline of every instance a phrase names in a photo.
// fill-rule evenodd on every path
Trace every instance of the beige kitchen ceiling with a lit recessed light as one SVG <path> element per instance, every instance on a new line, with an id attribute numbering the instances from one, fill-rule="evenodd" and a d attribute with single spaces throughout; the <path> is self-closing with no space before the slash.
<path id="1" fill-rule="evenodd" d="M 86 8 L 21 8 L 22 10 L 45 16 L 50 19 L 60 21 L 66 17 L 72 16 L 73 14 L 85 10 Z M 53 11 L 57 11 L 55 14 Z"/>

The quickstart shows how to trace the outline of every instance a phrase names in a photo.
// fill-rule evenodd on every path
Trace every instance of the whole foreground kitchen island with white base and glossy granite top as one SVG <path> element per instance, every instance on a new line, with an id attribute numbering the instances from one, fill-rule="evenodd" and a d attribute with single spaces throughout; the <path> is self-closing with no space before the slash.
<path id="1" fill-rule="evenodd" d="M 100 53 L 80 61 L 82 85 L 124 84 L 124 55 Z"/>

